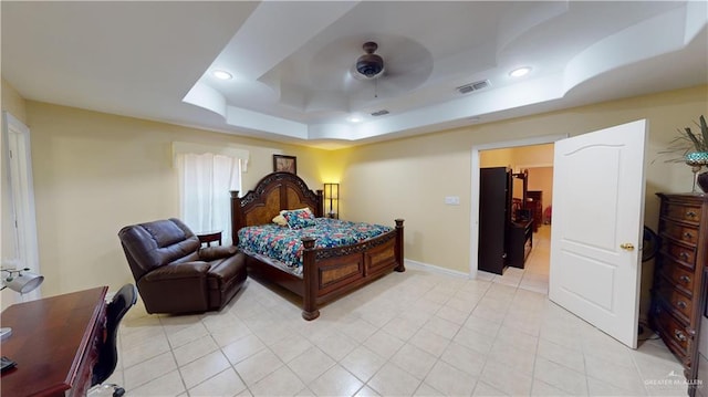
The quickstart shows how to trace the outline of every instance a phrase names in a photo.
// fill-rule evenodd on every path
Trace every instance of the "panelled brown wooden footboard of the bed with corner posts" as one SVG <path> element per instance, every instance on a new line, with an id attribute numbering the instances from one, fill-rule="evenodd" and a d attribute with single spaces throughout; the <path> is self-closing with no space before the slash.
<path id="1" fill-rule="evenodd" d="M 315 249 L 313 238 L 303 238 L 303 310 L 310 321 L 320 316 L 320 305 L 356 290 L 391 271 L 403 272 L 403 219 L 396 228 L 365 242 Z"/>

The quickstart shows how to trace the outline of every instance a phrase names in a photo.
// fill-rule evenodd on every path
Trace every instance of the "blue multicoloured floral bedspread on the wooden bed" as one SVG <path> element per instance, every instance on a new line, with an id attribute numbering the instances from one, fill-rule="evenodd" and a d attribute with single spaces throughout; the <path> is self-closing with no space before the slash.
<path id="1" fill-rule="evenodd" d="M 312 227 L 290 229 L 275 223 L 250 226 L 239 230 L 238 236 L 241 251 L 273 258 L 300 274 L 303 237 L 314 238 L 315 248 L 333 248 L 355 244 L 391 230 L 393 228 L 382 224 L 316 218 Z"/>

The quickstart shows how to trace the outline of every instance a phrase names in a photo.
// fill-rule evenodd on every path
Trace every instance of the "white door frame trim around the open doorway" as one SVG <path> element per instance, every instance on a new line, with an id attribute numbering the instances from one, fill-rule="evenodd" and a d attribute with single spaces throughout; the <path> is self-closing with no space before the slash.
<path id="1" fill-rule="evenodd" d="M 521 146 L 534 146 L 553 144 L 556 140 L 565 139 L 569 134 L 544 135 L 524 139 L 502 140 L 490 144 L 472 146 L 471 149 L 471 194 L 470 194 L 470 244 L 469 244 L 469 278 L 477 278 L 479 269 L 479 153 L 481 150 L 504 149 Z"/>

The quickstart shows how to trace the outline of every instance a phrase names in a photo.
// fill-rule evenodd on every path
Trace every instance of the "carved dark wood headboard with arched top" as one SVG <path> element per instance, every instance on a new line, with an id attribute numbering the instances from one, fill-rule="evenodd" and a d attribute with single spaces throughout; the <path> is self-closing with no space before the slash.
<path id="1" fill-rule="evenodd" d="M 322 190 L 313 191 L 299 176 L 291 173 L 272 173 L 258 181 L 253 190 L 239 198 L 231 190 L 231 234 L 238 243 L 239 229 L 247 226 L 270 223 L 283 209 L 310 207 L 315 217 L 324 213 Z"/>

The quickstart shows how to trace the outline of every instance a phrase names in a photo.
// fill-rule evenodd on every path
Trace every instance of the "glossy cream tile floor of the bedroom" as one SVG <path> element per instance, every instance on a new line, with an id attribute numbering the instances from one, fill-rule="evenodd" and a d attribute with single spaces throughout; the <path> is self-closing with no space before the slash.
<path id="1" fill-rule="evenodd" d="M 685 395 L 660 341 L 632 351 L 548 300 L 542 241 L 523 271 L 468 280 L 409 267 L 313 322 L 253 280 L 219 313 L 138 304 L 110 380 L 127 396 Z"/>

